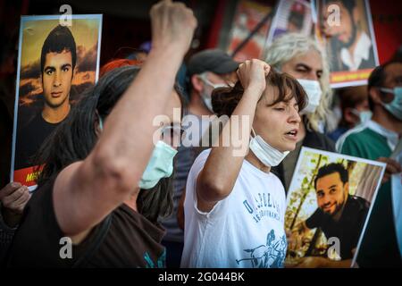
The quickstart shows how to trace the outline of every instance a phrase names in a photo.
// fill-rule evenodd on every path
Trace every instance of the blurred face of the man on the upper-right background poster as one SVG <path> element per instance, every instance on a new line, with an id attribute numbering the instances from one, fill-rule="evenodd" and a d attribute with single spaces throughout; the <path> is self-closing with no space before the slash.
<path id="1" fill-rule="evenodd" d="M 327 21 L 331 16 L 331 9 L 329 11 L 329 6 L 335 4 L 339 7 L 339 19 L 340 24 L 332 24 L 331 21 Z M 353 10 L 349 11 L 348 7 L 346 7 L 341 1 L 332 1 L 322 5 L 322 28 L 323 33 L 332 39 L 335 39 L 339 42 L 341 46 L 349 47 L 352 46 L 356 40 L 356 25 L 354 22 Z"/>

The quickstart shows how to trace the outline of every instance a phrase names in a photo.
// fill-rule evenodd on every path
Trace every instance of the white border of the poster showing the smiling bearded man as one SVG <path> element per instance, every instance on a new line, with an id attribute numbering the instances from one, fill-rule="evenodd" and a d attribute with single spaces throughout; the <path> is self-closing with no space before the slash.
<path id="1" fill-rule="evenodd" d="M 371 164 L 371 165 L 379 166 L 379 167 L 381 167 L 380 179 L 382 178 L 382 176 L 384 175 L 384 172 L 385 172 L 385 167 L 386 167 L 385 163 L 381 163 L 381 162 L 377 162 L 377 161 L 373 161 L 373 160 L 368 160 L 368 159 L 364 159 L 364 158 L 359 158 L 359 157 L 355 157 L 355 156 L 343 155 L 343 154 L 339 154 L 339 153 L 335 153 L 335 152 L 323 151 L 323 150 L 314 149 L 314 148 L 310 148 L 310 147 L 302 147 L 301 150 L 300 150 L 300 155 L 297 158 L 297 164 L 296 164 L 296 168 L 295 168 L 295 172 L 294 172 L 295 174 L 299 170 L 302 158 L 305 156 L 306 152 L 313 152 L 314 154 L 321 154 L 321 155 L 331 156 L 331 157 L 339 157 L 339 158 L 346 159 L 348 161 L 355 161 L 355 162 L 359 162 L 359 163 Z M 295 184 L 297 184 L 297 182 L 296 182 L 296 180 L 293 180 L 293 178 L 292 178 L 292 181 L 290 181 L 289 192 L 288 192 L 287 199 L 286 199 L 287 208 L 288 208 L 289 199 L 290 199 L 289 195 L 292 192 L 292 189 L 295 189 L 295 187 L 297 187 L 297 186 L 295 186 Z M 370 215 L 372 214 L 374 201 L 377 198 L 377 193 L 378 193 L 378 189 L 380 189 L 380 185 L 381 185 L 381 180 L 377 182 L 377 187 L 375 188 L 372 201 L 370 202 L 370 208 L 369 208 L 369 211 L 368 211 L 367 216 L 365 218 L 364 226 L 363 226 L 363 229 L 362 229 L 362 231 L 360 233 L 359 240 L 357 242 L 356 253 L 355 253 L 355 256 L 353 257 L 352 264 L 350 265 L 350 267 L 352 267 L 356 263 L 356 257 L 357 257 L 360 245 L 362 243 L 362 240 L 363 240 L 363 237 L 364 237 L 364 232 L 365 232 L 365 229 L 367 227 Z"/>

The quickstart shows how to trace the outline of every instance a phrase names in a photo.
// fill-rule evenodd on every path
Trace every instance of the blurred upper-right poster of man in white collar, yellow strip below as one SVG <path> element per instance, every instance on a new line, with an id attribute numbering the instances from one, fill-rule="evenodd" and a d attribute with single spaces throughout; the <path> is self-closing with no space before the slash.
<path id="1" fill-rule="evenodd" d="M 316 36 L 326 46 L 331 87 L 367 84 L 379 65 L 368 0 L 319 0 Z"/>

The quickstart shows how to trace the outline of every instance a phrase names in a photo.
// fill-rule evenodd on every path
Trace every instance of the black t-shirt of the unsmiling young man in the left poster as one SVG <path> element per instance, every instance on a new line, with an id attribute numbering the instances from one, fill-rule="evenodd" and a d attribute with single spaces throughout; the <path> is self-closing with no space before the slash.
<path id="1" fill-rule="evenodd" d="M 21 115 L 21 116 L 20 116 Z M 29 120 L 26 114 L 20 114 L 17 126 L 14 169 L 32 166 L 32 158 L 52 131 L 60 124 L 46 122 L 41 111 Z M 27 120 L 27 121 L 26 121 Z"/>

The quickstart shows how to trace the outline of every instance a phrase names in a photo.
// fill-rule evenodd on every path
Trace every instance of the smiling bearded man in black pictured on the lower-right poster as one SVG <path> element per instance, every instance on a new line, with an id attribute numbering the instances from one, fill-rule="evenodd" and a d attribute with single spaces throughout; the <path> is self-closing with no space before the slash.
<path id="1" fill-rule="evenodd" d="M 299 232 L 320 228 L 327 239 L 338 238 L 340 260 L 352 259 L 370 207 L 364 198 L 350 195 L 348 186 L 343 164 L 322 166 L 314 180 L 318 207 L 296 228 Z"/>

